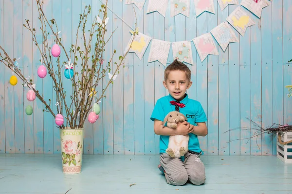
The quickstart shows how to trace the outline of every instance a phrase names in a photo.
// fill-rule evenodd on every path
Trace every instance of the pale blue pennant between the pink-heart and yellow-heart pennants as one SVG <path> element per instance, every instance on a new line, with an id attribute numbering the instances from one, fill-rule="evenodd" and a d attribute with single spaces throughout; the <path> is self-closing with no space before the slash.
<path id="1" fill-rule="evenodd" d="M 212 29 L 211 33 L 224 52 L 229 43 L 239 41 L 231 27 L 228 25 L 227 21 L 224 21 L 223 23 Z"/>

